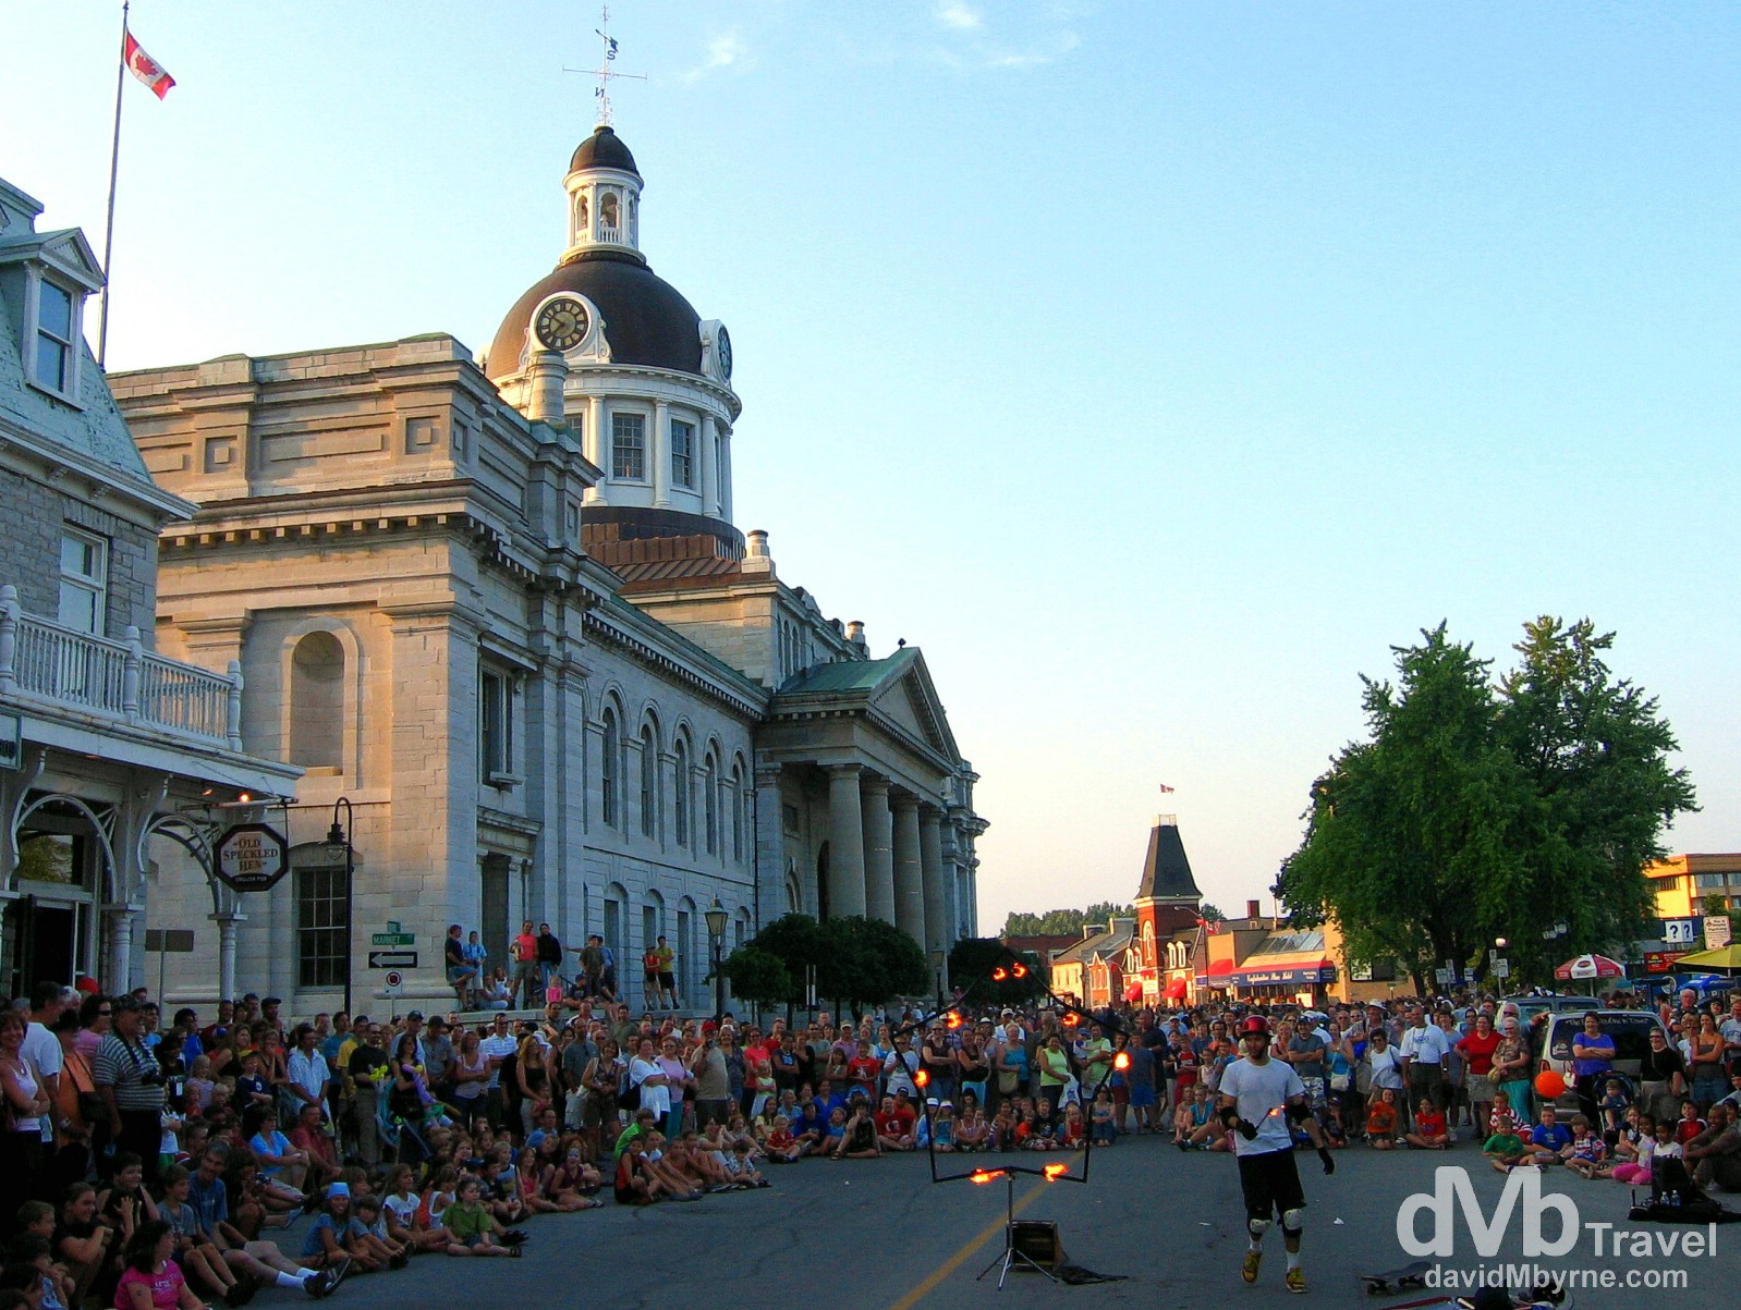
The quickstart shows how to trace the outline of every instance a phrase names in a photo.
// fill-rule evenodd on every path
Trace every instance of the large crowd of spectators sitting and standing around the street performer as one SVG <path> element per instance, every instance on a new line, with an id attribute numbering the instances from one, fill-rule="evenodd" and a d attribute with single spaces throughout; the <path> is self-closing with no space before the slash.
<path id="1" fill-rule="evenodd" d="M 1213 1099 L 1243 1006 L 716 1025 L 632 1014 L 595 952 L 566 986 L 561 955 L 541 959 L 529 924 L 526 936 L 510 981 L 545 1002 L 536 1016 L 289 1021 L 277 999 L 247 995 L 165 1021 L 143 988 L 56 985 L 0 1007 L 0 1291 L 31 1293 L 33 1310 L 193 1310 L 263 1287 L 322 1298 L 420 1253 L 514 1258 L 536 1214 L 766 1188 L 806 1159 L 1079 1152 L 1144 1134 L 1184 1152 L 1231 1145 Z M 482 960 L 449 941 L 456 1000 L 475 1004 Z M 1532 1101 L 1529 1023 L 1511 1004 L 1266 1009 L 1271 1054 L 1301 1075 L 1332 1146 L 1471 1140 L 1499 1169 L 1621 1181 L 1680 1155 L 1699 1181 L 1741 1188 L 1741 1000 L 1687 1002 L 1664 1007 L 1680 1037 L 1652 1035 L 1637 1082 L 1577 1047 L 1569 1124 Z"/>

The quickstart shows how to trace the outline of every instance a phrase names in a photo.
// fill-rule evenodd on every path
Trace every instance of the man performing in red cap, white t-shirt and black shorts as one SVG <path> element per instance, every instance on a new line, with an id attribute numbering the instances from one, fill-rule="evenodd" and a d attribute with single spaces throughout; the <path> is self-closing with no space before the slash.
<path id="1" fill-rule="evenodd" d="M 1281 1240 L 1288 1253 L 1288 1291 L 1304 1293 L 1301 1232 L 1306 1226 L 1306 1192 L 1301 1188 L 1299 1169 L 1294 1167 L 1288 1120 L 1304 1124 L 1327 1174 L 1335 1173 L 1335 1160 L 1323 1148 L 1318 1120 L 1306 1105 L 1306 1086 L 1292 1065 L 1269 1058 L 1269 1019 L 1262 1014 L 1250 1014 L 1240 1023 L 1245 1056 L 1222 1072 L 1215 1105 L 1220 1108 L 1220 1120 L 1234 1129 L 1233 1153 L 1240 1162 L 1240 1190 L 1245 1193 L 1245 1230 L 1252 1237 L 1240 1277 L 1257 1282 L 1264 1233 L 1274 1218 L 1281 1220 Z"/>

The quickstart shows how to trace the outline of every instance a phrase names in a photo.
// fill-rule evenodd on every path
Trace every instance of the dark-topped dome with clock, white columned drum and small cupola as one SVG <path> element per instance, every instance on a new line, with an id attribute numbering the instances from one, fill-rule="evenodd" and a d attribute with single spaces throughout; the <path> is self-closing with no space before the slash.
<path id="1" fill-rule="evenodd" d="M 581 506 L 601 558 L 602 536 L 693 538 L 736 558 L 731 338 L 648 266 L 642 186 L 608 124 L 580 143 L 562 179 L 568 245 L 508 310 L 484 371 L 512 405 L 580 435 L 602 475 Z"/>

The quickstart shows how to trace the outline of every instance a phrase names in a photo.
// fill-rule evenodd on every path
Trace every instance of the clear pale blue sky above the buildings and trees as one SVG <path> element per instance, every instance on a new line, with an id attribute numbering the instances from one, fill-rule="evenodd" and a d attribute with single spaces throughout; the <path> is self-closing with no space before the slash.
<path id="1" fill-rule="evenodd" d="M 0 172 L 101 244 L 118 5 L 0 0 Z M 1266 896 L 1360 672 L 1591 616 L 1741 849 L 1734 5 L 634 3 L 642 245 L 740 527 L 924 647 L 982 924 L 1175 811 Z M 587 3 L 139 0 L 111 364 L 449 331 L 562 245 Z M 26 108 L 28 106 L 28 108 Z M 1156 783 L 1177 793 L 1165 800 Z"/>

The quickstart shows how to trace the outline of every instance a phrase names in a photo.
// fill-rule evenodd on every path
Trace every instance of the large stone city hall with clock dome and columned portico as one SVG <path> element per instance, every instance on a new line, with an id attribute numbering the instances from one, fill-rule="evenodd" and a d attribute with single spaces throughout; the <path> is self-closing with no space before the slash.
<path id="1" fill-rule="evenodd" d="M 642 177 L 575 151 L 555 271 L 484 360 L 442 334 L 111 378 L 158 485 L 157 644 L 242 682 L 242 745 L 299 767 L 291 875 L 244 898 L 237 978 L 292 1013 L 355 992 L 397 922 L 407 995 L 451 999 L 440 941 L 501 962 L 521 920 L 705 972 L 733 929 L 869 913 L 928 952 L 975 931 L 975 774 L 924 656 L 783 581 L 733 525 L 731 339 L 641 252 Z M 334 802 L 353 807 L 353 926 Z M 202 913 L 162 877 L 151 926 Z M 569 957 L 569 969 L 573 957 Z M 198 955 L 171 997 L 211 995 Z"/>

